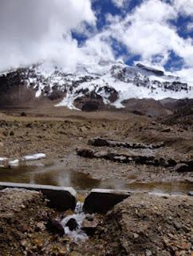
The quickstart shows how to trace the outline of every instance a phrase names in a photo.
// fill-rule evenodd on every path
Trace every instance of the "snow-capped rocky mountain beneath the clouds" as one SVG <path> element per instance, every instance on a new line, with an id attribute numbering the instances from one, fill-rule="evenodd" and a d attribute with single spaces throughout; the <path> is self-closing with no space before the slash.
<path id="1" fill-rule="evenodd" d="M 0 85 L 6 78 L 33 89 L 37 98 L 61 99 L 57 106 L 69 109 L 97 109 L 101 104 L 120 108 L 129 98 L 193 98 L 193 87 L 179 77 L 140 63 L 103 61 L 77 65 L 73 71 L 43 63 L 3 74 Z"/>

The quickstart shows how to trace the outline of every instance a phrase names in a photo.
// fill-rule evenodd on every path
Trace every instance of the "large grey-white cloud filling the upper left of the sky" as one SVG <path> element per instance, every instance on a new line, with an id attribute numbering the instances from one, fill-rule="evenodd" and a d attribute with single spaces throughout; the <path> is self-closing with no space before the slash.
<path id="1" fill-rule="evenodd" d="M 82 22 L 96 22 L 90 0 L 0 0 L 0 70 L 57 57 L 73 65 L 71 30 Z"/>

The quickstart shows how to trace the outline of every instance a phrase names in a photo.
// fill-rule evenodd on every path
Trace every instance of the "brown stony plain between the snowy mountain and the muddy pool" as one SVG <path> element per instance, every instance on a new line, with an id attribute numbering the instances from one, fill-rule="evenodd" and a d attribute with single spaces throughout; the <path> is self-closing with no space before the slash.
<path id="1" fill-rule="evenodd" d="M 26 116 L 21 117 L 23 111 Z M 156 158 L 187 161 L 193 158 L 192 126 L 166 126 L 153 118 L 120 110 L 84 113 L 46 104 L 37 109 L 6 110 L 0 118 L 1 157 L 20 158 L 25 154 L 45 153 L 47 159 L 62 160 L 69 170 L 78 170 L 97 179 L 119 178 L 128 182 L 193 181 L 192 171 L 178 173 L 164 166 L 85 159 L 77 157 L 76 153 L 77 148 L 96 150 L 96 147 L 88 145 L 89 139 L 103 137 L 123 142 L 164 142 L 165 146 L 156 150 L 97 148 L 100 152 L 152 154 Z"/>

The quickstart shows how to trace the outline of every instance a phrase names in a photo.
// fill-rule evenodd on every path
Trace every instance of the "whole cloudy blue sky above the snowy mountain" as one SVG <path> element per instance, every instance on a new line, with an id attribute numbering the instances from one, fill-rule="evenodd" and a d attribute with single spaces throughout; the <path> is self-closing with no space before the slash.
<path id="1" fill-rule="evenodd" d="M 121 60 L 191 78 L 193 0 L 0 0 L 0 39 L 0 70 Z"/>

